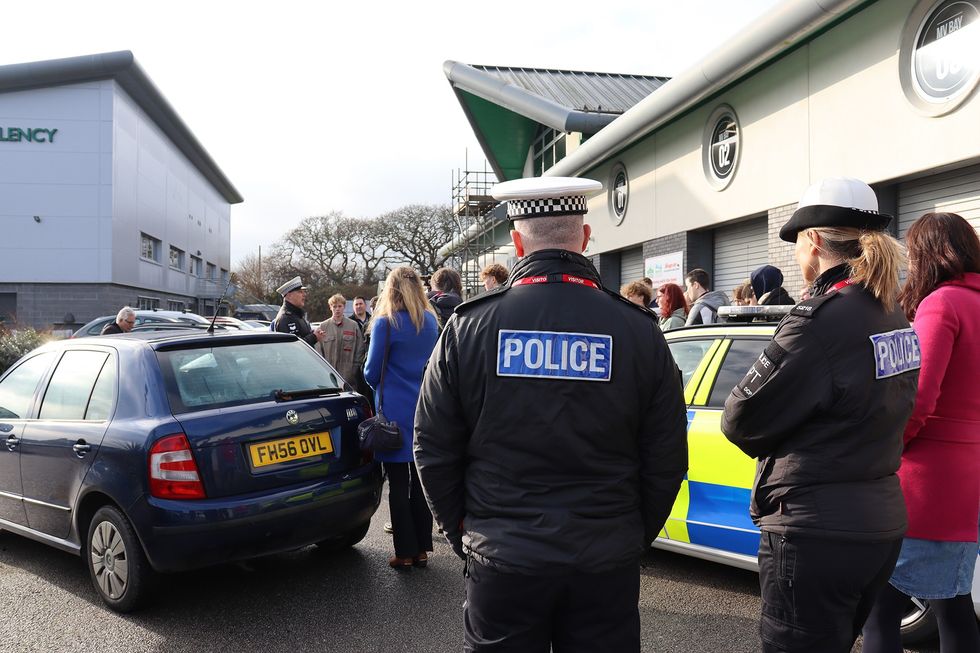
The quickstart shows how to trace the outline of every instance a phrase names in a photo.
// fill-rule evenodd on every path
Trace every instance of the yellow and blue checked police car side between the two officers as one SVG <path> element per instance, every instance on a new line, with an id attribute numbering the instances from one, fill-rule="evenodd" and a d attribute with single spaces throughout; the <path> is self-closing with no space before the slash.
<path id="1" fill-rule="evenodd" d="M 721 411 L 687 411 L 690 468 L 660 537 L 754 556 L 759 530 L 749 517 L 755 461 L 721 432 Z"/>

